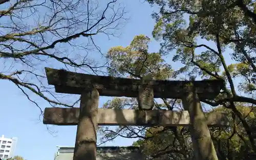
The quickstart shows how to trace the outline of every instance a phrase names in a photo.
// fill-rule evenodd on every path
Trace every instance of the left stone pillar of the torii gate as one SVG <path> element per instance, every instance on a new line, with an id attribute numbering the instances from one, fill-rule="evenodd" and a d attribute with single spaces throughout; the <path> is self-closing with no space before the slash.
<path id="1" fill-rule="evenodd" d="M 96 160 L 98 103 L 97 89 L 81 94 L 74 160 Z"/>

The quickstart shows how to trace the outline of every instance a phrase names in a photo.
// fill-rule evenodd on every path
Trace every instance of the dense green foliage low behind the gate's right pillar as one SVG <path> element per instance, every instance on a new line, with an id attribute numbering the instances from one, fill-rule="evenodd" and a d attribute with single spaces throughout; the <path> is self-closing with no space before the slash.
<path id="1" fill-rule="evenodd" d="M 246 117 L 251 127 L 255 126 L 256 110 L 252 111 L 249 106 L 238 105 L 238 111 Z M 233 121 L 230 109 L 219 106 L 211 112 L 226 112 L 230 122 Z M 220 159 L 225 159 L 230 154 L 234 159 L 247 159 L 256 157 L 251 148 L 247 146 L 249 143 L 245 130 L 241 121 L 236 118 L 227 128 L 218 129 L 216 127 L 209 128 L 214 141 L 215 147 Z M 151 139 L 140 139 L 133 145 L 140 146 L 146 157 L 151 155 L 162 155 L 167 157 L 176 157 L 174 159 L 193 159 L 193 149 L 190 143 L 190 135 L 188 128 L 177 127 L 177 130 L 164 130 L 163 127 L 151 127 L 146 131 L 146 137 L 154 137 Z M 249 154 L 248 154 L 249 153 Z"/>

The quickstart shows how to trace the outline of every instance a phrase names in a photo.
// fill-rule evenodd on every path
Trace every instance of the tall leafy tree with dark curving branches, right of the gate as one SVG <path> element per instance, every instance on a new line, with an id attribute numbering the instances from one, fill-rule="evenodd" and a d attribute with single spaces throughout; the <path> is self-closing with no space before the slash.
<path id="1" fill-rule="evenodd" d="M 256 16 L 251 12 L 255 10 L 255 2 L 148 0 L 148 3 L 161 8 L 160 12 L 153 13 L 157 21 L 153 36 L 161 40 L 160 54 L 176 51 L 171 55 L 173 61 L 183 64 L 173 75 L 226 81 L 226 88 L 218 97 L 203 100 L 213 106 L 224 105 L 225 112 L 236 116 L 237 127 L 233 127 L 237 129 L 236 134 L 232 135 L 231 128 L 225 132 L 215 128 L 215 133 L 220 134 L 215 138 L 216 145 L 221 146 L 218 156 L 225 159 L 236 155 L 236 159 L 243 159 L 249 158 L 247 153 L 255 154 L 252 129 L 255 112 L 244 116 L 244 112 L 248 113 L 256 104 L 253 98 L 256 90 L 256 21 L 253 20 Z M 230 120 L 232 118 L 230 116 Z"/>

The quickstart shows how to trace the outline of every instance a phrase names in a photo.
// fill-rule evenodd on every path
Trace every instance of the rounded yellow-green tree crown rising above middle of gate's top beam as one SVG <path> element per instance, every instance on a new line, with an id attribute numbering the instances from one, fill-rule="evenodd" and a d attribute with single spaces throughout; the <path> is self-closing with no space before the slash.
<path id="1" fill-rule="evenodd" d="M 138 35 L 129 46 L 112 47 L 107 55 L 110 60 L 109 73 L 133 78 L 152 74 L 153 79 L 167 79 L 172 69 L 164 62 L 161 54 L 148 52 L 150 42 L 147 36 Z"/>

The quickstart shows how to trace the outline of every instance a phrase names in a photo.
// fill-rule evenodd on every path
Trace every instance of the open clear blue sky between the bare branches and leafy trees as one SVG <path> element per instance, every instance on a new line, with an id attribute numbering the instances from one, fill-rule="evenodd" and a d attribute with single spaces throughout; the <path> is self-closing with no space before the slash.
<path id="1" fill-rule="evenodd" d="M 153 9 L 143 1 L 122 1 L 129 11 L 130 20 L 121 29 L 119 38 L 111 38 L 110 41 L 97 39 L 102 52 L 108 51 L 113 46 L 129 45 L 134 36 L 144 34 L 149 37 L 154 28 L 154 19 L 151 18 Z M 153 41 L 150 51 L 158 51 L 159 44 Z M 51 65 L 52 66 L 52 65 Z M 58 68 L 58 66 L 54 66 Z M 1 66 L 0 66 L 1 69 Z M 53 135 L 49 133 L 46 125 L 39 119 L 39 110 L 31 103 L 16 86 L 8 81 L 0 81 L 0 135 L 7 138 L 17 137 L 18 143 L 16 155 L 23 156 L 27 160 L 53 159 L 57 151 L 56 146 L 74 146 L 76 126 L 53 126 L 51 130 L 57 131 Z M 36 98 L 40 106 L 49 107 L 49 103 Z M 101 106 L 109 98 L 101 97 Z M 105 145 L 126 146 L 132 145 L 132 139 L 118 138 L 114 142 Z"/>

